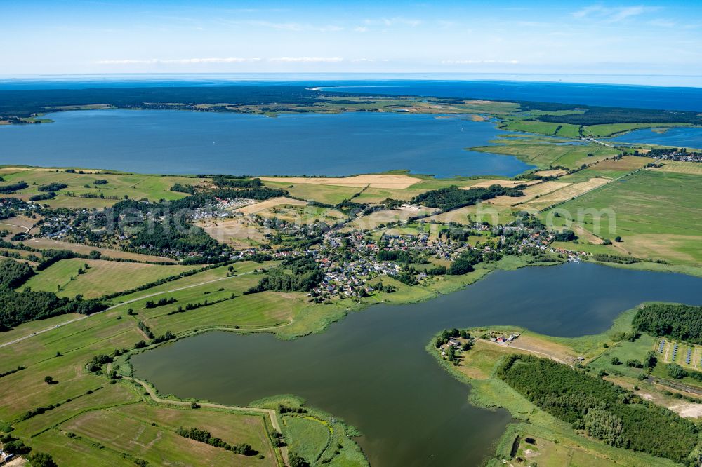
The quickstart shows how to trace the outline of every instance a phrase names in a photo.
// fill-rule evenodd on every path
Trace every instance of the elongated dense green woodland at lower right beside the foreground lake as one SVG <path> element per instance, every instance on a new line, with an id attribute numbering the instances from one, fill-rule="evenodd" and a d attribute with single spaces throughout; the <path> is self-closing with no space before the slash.
<path id="1" fill-rule="evenodd" d="M 620 386 L 536 356 L 513 355 L 497 376 L 542 410 L 608 445 L 698 465 L 694 422 Z"/>

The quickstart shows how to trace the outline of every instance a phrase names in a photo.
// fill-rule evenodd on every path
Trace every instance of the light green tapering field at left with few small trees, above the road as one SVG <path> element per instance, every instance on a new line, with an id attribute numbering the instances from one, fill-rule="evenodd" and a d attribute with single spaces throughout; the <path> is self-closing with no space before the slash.
<path id="1" fill-rule="evenodd" d="M 85 265 L 88 269 L 85 269 Z M 79 273 L 79 269 L 83 271 Z M 24 289 L 56 292 L 59 297 L 95 298 L 128 290 L 160 278 L 174 276 L 195 266 L 105 261 L 103 259 L 62 259 L 29 279 Z"/>

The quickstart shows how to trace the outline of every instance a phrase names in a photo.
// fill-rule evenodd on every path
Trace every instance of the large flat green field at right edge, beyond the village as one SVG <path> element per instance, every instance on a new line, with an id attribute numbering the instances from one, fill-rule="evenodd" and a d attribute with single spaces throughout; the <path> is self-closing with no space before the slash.
<path id="1" fill-rule="evenodd" d="M 577 224 L 600 238 L 621 236 L 617 246 L 629 255 L 698 264 L 702 261 L 698 248 L 701 196 L 702 177 L 698 175 L 640 170 L 557 209 L 570 212 Z M 588 212 L 604 215 L 597 219 Z M 556 226 L 563 219 L 554 218 Z"/>

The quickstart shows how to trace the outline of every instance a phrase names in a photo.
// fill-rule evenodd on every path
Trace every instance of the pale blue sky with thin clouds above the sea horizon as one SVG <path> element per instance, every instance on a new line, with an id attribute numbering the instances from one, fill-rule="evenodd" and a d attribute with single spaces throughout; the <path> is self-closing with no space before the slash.
<path id="1" fill-rule="evenodd" d="M 702 74 L 702 1 L 0 0 L 0 74 Z"/>

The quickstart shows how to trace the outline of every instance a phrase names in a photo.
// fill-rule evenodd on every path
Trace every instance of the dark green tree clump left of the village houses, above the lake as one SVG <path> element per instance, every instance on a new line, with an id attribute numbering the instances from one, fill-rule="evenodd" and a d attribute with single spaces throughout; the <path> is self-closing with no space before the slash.
<path id="1" fill-rule="evenodd" d="M 278 292 L 309 291 L 324 278 L 322 269 L 310 256 L 285 259 L 280 266 L 269 269 L 266 276 L 245 294 L 254 294 L 265 290 Z"/>

